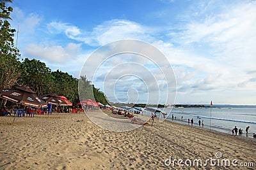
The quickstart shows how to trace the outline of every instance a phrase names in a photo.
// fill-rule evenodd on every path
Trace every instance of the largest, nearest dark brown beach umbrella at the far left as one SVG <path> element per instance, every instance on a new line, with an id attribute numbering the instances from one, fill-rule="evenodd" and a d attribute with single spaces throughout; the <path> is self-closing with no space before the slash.
<path id="1" fill-rule="evenodd" d="M 35 92 L 29 87 L 15 87 L 13 89 L 1 89 L 1 96 L 3 99 L 12 101 L 13 103 L 20 103 L 24 106 L 31 106 L 34 108 L 46 108 L 47 104 L 36 96 Z"/>

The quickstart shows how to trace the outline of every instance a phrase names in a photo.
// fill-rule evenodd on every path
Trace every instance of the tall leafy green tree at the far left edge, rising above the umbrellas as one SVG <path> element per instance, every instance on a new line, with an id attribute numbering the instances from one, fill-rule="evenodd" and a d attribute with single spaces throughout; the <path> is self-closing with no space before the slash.
<path id="1" fill-rule="evenodd" d="M 1 14 L 10 16 L 12 7 L 0 3 Z M 1 18 L 0 18 L 1 19 Z M 10 88 L 17 83 L 20 75 L 19 50 L 14 46 L 15 29 L 7 20 L 0 20 L 0 88 Z"/>

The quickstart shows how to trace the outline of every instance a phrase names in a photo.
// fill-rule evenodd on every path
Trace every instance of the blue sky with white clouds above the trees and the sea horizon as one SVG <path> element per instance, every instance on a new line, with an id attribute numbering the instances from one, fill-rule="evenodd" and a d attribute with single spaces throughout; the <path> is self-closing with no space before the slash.
<path id="1" fill-rule="evenodd" d="M 21 57 L 45 62 L 52 71 L 79 78 L 94 52 L 120 39 L 145 41 L 163 53 L 165 65 L 122 54 L 98 66 L 101 74 L 92 82 L 105 93 L 112 88 L 109 101 L 256 104 L 256 1 L 14 0 L 8 5 L 13 7 L 12 28 L 19 25 Z M 168 81 L 175 93 L 166 92 L 157 78 L 166 73 L 156 69 L 166 67 L 175 76 Z M 129 76 L 129 70 L 136 72 Z M 104 82 L 106 77 L 116 82 L 114 87 Z M 148 101 L 148 92 L 156 99 Z"/>

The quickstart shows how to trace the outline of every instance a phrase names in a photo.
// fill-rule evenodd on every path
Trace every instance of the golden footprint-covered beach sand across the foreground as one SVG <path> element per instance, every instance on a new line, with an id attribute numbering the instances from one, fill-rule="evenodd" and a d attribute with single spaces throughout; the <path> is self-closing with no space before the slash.
<path id="1" fill-rule="evenodd" d="M 97 113 L 97 111 L 95 111 Z M 168 160 L 222 159 L 253 162 L 256 139 L 155 120 L 134 131 L 106 131 L 84 113 L 0 117 L 0 169 L 246 169 L 178 166 Z M 187 162 L 189 163 L 189 162 Z M 217 164 L 217 162 L 216 162 Z"/>

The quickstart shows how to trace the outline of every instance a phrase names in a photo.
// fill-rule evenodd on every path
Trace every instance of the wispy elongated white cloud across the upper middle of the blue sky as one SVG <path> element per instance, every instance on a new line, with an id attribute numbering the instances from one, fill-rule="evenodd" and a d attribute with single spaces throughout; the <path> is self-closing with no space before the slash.
<path id="1" fill-rule="evenodd" d="M 105 45 L 119 39 L 142 39 L 150 41 L 150 30 L 147 27 L 129 20 L 109 20 L 94 27 L 91 32 L 81 31 L 74 25 L 62 22 L 51 22 L 47 29 L 54 34 L 65 35 L 90 46 Z"/>

